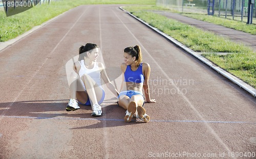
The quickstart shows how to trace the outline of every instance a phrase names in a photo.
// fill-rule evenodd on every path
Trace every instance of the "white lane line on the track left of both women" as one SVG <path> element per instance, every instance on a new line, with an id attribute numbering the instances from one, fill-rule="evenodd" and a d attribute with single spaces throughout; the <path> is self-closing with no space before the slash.
<path id="1" fill-rule="evenodd" d="M 77 24 L 77 22 L 80 20 L 80 18 L 83 16 L 83 14 L 87 11 L 84 10 L 83 13 L 79 16 L 79 18 L 76 20 L 76 22 L 73 24 L 73 26 L 69 29 L 69 31 L 61 38 L 61 40 L 56 44 L 56 46 L 54 47 L 54 49 L 46 56 L 45 61 L 42 63 L 42 65 L 39 67 L 39 69 L 37 71 L 35 71 L 35 73 L 33 74 L 33 76 L 31 77 L 31 79 L 27 82 L 27 84 L 20 90 L 19 94 L 16 96 L 16 98 L 13 100 L 13 102 L 9 105 L 9 107 L 11 107 L 13 105 L 13 103 L 19 98 L 20 95 L 23 94 L 23 91 L 25 90 L 25 88 L 27 88 L 27 86 L 30 84 L 30 82 L 34 79 L 34 77 L 37 75 L 37 73 L 41 70 L 42 66 L 45 65 L 45 63 L 47 62 L 47 60 L 49 59 L 48 57 L 50 57 L 55 50 L 58 48 L 59 44 L 63 41 L 63 39 L 66 38 L 66 36 L 69 34 L 69 32 L 74 28 L 74 26 Z M 2 115 L 5 115 L 6 111 L 3 111 Z"/>

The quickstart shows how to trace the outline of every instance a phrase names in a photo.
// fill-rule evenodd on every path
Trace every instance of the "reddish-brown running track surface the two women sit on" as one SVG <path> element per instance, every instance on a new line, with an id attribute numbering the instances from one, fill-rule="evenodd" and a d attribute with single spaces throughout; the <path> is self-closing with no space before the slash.
<path id="1" fill-rule="evenodd" d="M 232 152 L 255 152 L 255 98 L 118 7 L 79 6 L 0 51 L 0 158 L 235 158 Z M 65 110 L 66 64 L 87 42 L 99 44 L 118 88 L 122 50 L 141 46 L 157 100 L 144 105 L 151 122 L 124 123 L 125 110 L 108 89 L 99 118 L 86 106 Z"/>

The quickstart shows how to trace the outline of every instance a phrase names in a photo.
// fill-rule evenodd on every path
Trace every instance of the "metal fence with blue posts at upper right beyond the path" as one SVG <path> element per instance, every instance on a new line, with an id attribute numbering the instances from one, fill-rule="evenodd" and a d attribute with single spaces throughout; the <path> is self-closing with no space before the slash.
<path id="1" fill-rule="evenodd" d="M 256 24 L 255 0 L 157 0 L 157 6 L 182 13 L 217 15 Z M 248 6 L 249 5 L 249 6 Z"/>

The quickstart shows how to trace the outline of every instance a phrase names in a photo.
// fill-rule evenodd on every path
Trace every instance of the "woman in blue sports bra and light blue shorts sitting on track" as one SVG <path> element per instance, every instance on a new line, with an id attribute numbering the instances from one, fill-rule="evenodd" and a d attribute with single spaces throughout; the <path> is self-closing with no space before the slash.
<path id="1" fill-rule="evenodd" d="M 150 78 L 150 65 L 142 62 L 140 47 L 127 47 L 123 53 L 124 63 L 121 64 L 123 82 L 118 96 L 118 105 L 126 109 L 125 122 L 131 122 L 136 116 L 144 122 L 150 121 L 150 116 L 146 114 L 143 107 L 144 100 L 148 103 L 155 103 L 155 99 L 150 98 L 148 80 Z M 145 97 L 142 93 L 142 88 Z"/>

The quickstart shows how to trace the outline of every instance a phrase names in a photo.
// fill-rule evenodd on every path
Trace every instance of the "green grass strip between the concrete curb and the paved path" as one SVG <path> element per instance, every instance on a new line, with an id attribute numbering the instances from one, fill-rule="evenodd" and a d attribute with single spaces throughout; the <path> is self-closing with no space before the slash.
<path id="1" fill-rule="evenodd" d="M 124 9 L 172 36 L 188 48 L 202 52 L 202 56 L 256 88 L 256 53 L 244 44 L 153 13 L 150 11 L 155 10 L 153 6 L 125 6 Z M 158 9 L 161 10 L 161 8 Z M 230 54 L 218 55 L 219 52 Z"/>

